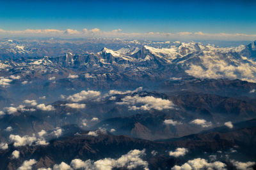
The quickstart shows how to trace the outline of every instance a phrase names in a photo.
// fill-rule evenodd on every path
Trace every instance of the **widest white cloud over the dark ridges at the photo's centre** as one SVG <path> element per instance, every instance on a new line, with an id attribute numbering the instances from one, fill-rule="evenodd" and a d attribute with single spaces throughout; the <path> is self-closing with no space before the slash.
<path id="1" fill-rule="evenodd" d="M 125 96 L 122 102 L 116 104 L 127 104 L 129 105 L 129 110 L 164 110 L 172 109 L 175 106 L 172 101 L 156 98 L 153 96 L 140 97 L 136 96 Z M 140 106 L 138 106 L 140 104 Z M 132 105 L 132 106 L 131 106 Z"/>

